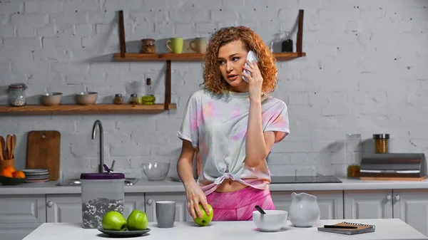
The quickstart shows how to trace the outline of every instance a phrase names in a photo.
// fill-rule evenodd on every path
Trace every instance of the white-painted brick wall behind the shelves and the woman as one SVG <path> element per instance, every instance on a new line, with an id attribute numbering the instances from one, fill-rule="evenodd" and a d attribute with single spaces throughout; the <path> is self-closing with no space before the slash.
<path id="1" fill-rule="evenodd" d="M 427 1 L 5 0 L 0 103 L 6 103 L 6 86 L 16 82 L 29 84 L 31 103 L 46 90 L 96 90 L 99 103 L 107 103 L 114 93 L 129 95 L 131 81 L 147 77 L 162 101 L 164 63 L 111 62 L 119 50 L 120 9 L 128 47 L 135 51 L 141 38 L 208 36 L 231 25 L 250 26 L 268 43 L 275 33 L 292 29 L 298 10 L 305 9 L 307 57 L 278 63 L 273 95 L 288 104 L 292 133 L 270 155 L 272 174 L 343 174 L 342 141 L 350 132 L 362 133 L 365 151 L 374 132 L 392 135 L 393 152 L 428 149 Z M 170 113 L 1 116 L 1 134 L 17 135 L 17 167 L 25 166 L 26 132 L 58 130 L 62 177 L 96 171 L 98 140 L 91 140 L 91 127 L 100 119 L 108 165 L 116 160 L 116 169 L 130 177 L 141 177 L 141 162 L 154 160 L 173 162 L 174 171 L 180 152 L 175 132 L 202 79 L 200 63 L 172 68 L 178 109 Z"/>

